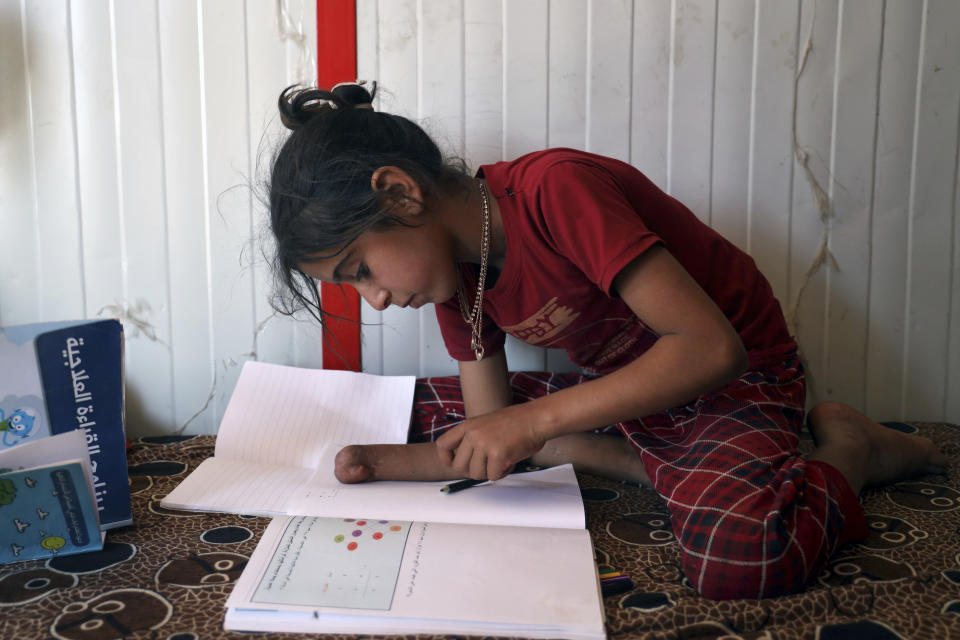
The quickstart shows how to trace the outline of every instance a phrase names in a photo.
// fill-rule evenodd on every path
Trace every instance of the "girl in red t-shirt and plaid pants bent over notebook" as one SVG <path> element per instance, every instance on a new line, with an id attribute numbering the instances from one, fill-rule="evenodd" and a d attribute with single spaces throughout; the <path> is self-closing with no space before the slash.
<path id="1" fill-rule="evenodd" d="M 943 470 L 931 442 L 837 403 L 807 416 L 817 448 L 800 456 L 803 369 L 769 284 L 633 167 L 552 149 L 469 177 L 372 99 L 280 96 L 279 308 L 322 321 L 317 280 L 375 309 L 433 303 L 460 377 L 420 381 L 413 444 L 342 450 L 342 482 L 571 462 L 656 489 L 700 593 L 758 598 L 866 535 L 863 487 Z M 585 374 L 508 374 L 505 334 Z"/>

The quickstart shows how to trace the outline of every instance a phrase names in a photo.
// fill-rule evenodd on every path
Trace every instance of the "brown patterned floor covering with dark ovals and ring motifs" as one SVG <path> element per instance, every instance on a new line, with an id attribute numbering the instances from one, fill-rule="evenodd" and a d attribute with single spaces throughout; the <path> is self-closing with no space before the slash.
<path id="1" fill-rule="evenodd" d="M 960 428 L 911 423 L 956 460 Z M 807 443 L 809 446 L 809 443 Z M 144 438 L 129 455 L 134 521 L 103 551 L 0 567 L 0 638 L 208 640 L 267 524 L 168 511 L 160 499 L 204 458 L 213 436 Z M 840 550 L 803 593 L 715 602 L 684 582 L 662 501 L 650 490 L 581 476 L 601 571 L 630 582 L 604 598 L 610 638 L 960 638 L 960 483 L 929 476 L 870 490 L 870 537 Z M 289 638 L 286 634 L 257 637 Z M 337 636 L 345 637 L 345 636 Z M 449 637 L 449 636 L 448 636 Z"/>

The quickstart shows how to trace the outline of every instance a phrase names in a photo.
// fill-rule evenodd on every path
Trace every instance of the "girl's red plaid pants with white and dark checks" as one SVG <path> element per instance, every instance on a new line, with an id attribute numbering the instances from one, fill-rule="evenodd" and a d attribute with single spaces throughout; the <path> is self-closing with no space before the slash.
<path id="1" fill-rule="evenodd" d="M 589 378 L 511 373 L 514 402 Z M 795 592 L 837 546 L 866 536 L 857 496 L 831 465 L 801 457 L 805 385 L 796 356 L 694 402 L 610 425 L 643 460 L 670 511 L 687 580 L 710 598 Z M 456 376 L 417 381 L 411 442 L 464 419 Z"/>

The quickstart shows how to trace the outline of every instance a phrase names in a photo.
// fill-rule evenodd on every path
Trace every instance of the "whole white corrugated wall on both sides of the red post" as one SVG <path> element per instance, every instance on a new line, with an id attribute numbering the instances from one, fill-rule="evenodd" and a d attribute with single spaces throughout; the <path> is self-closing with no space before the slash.
<path id="1" fill-rule="evenodd" d="M 0 324 L 122 317 L 134 435 L 215 431 L 246 359 L 320 365 L 267 304 L 250 188 L 315 77 L 313 4 L 0 0 Z M 754 256 L 814 399 L 960 423 L 960 4 L 357 5 L 379 108 L 471 166 L 631 162 Z M 366 370 L 455 370 L 432 309 L 363 316 Z"/>

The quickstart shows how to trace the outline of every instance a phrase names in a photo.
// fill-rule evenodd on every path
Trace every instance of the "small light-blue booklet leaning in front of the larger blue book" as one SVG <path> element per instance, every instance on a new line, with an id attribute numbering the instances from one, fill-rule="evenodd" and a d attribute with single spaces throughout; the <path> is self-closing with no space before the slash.
<path id="1" fill-rule="evenodd" d="M 0 452 L 0 564 L 103 547 L 81 431 Z"/>

